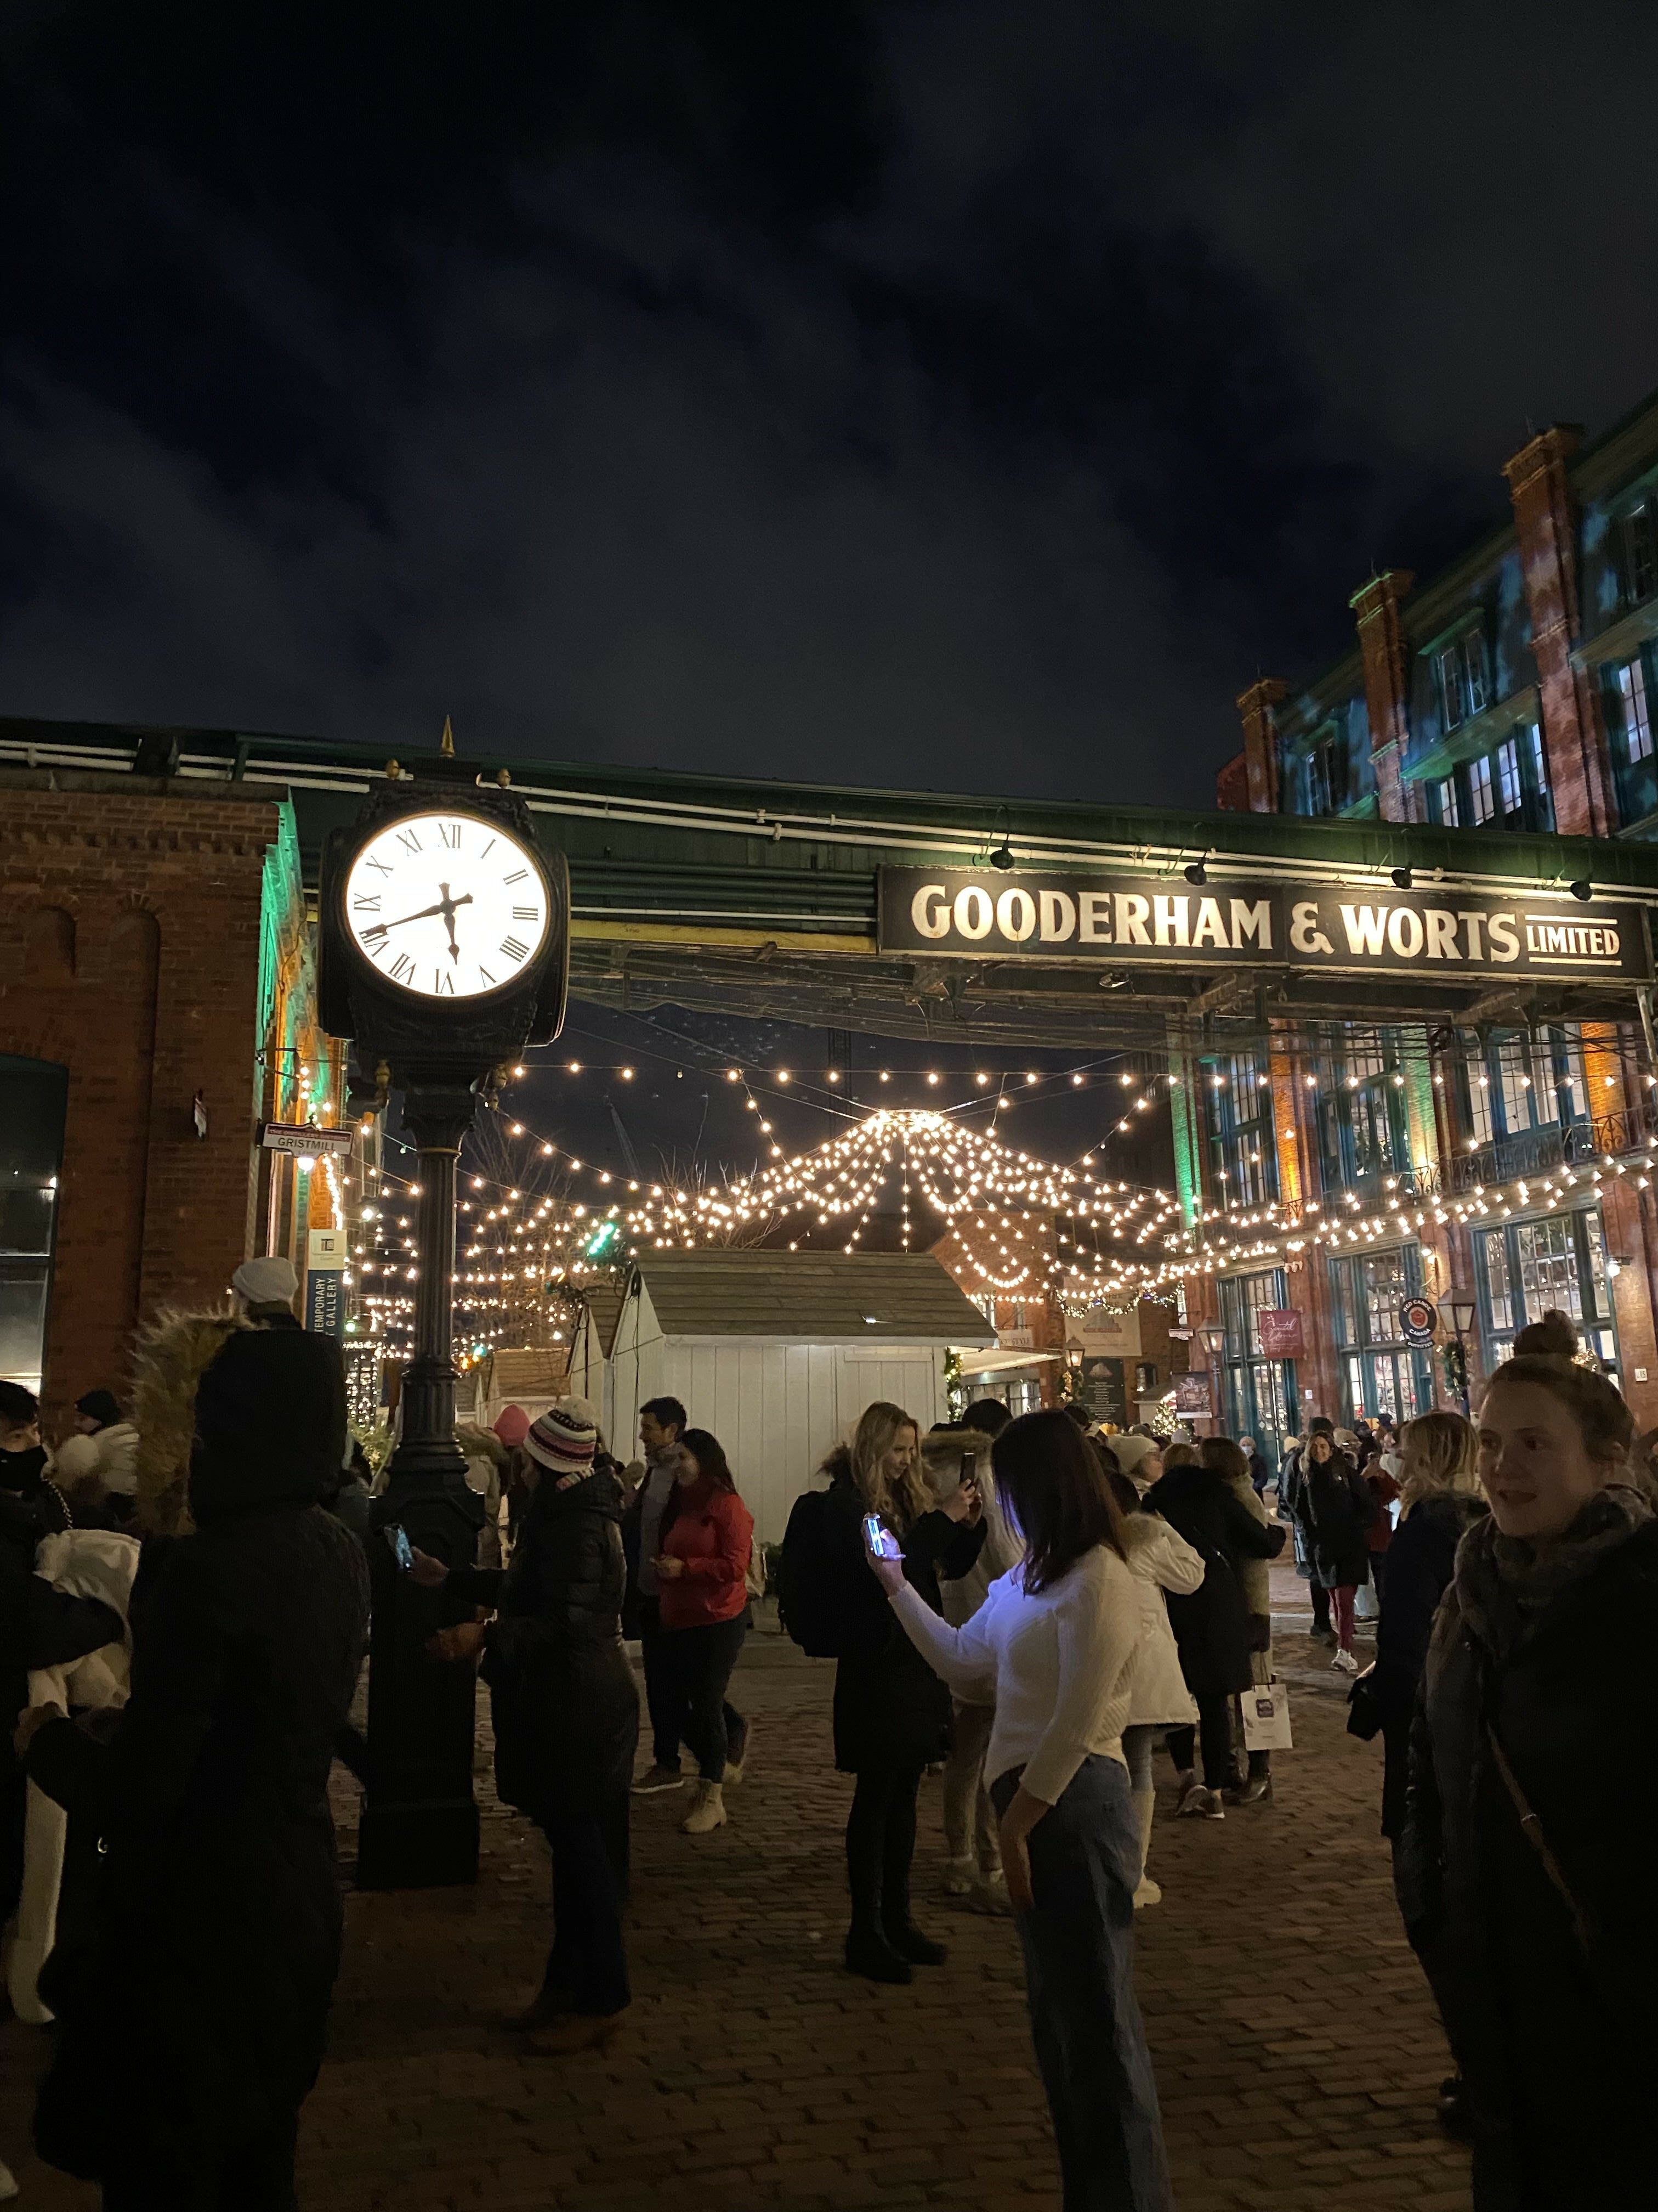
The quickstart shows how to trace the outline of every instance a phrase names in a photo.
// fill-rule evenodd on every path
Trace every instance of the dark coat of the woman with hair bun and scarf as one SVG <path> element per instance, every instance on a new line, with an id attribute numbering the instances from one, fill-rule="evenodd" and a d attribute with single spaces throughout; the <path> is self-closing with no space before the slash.
<path id="1" fill-rule="evenodd" d="M 1519 1632 L 1488 1604 L 1494 1526 L 1463 1537 L 1410 1743 L 1399 1905 L 1475 2115 L 1475 2203 L 1651 2203 L 1658 1911 L 1658 1524 L 1585 1557 Z M 1567 1546 L 1559 1551 L 1565 1553 Z M 1587 1924 L 1587 1955 L 1492 1736 Z"/>

